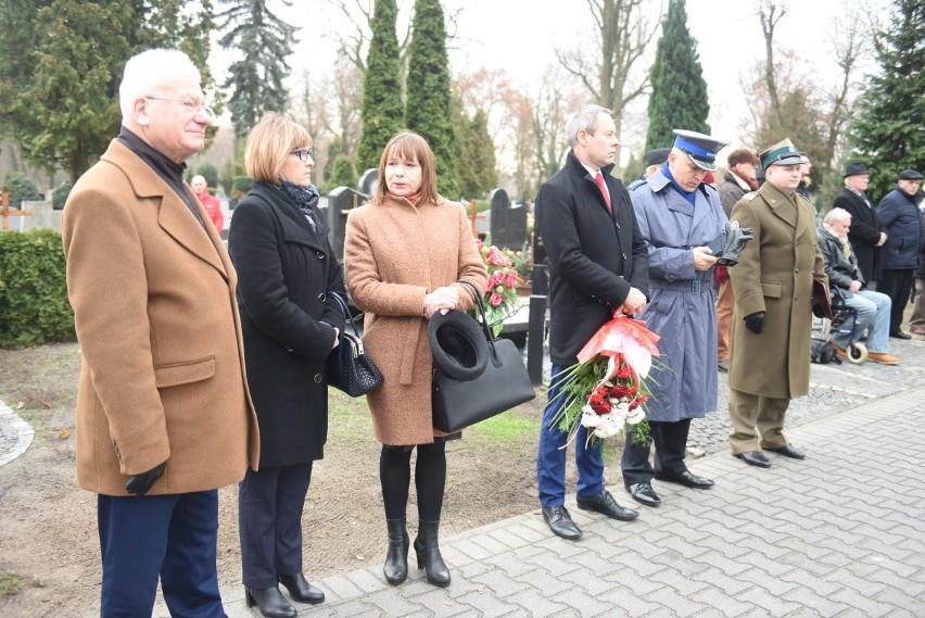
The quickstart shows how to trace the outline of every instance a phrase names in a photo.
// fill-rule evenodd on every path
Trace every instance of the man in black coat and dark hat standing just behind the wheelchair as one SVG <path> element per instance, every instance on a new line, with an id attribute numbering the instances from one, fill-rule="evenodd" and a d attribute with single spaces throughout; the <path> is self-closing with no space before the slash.
<path id="1" fill-rule="evenodd" d="M 863 163 L 849 163 L 845 166 L 845 189 L 835 198 L 832 207 L 844 209 L 851 215 L 848 241 L 854 250 L 867 287 L 873 290 L 880 278 L 880 247 L 886 242 L 886 234 L 880 231 L 877 212 L 865 193 L 869 174 L 870 171 Z"/>

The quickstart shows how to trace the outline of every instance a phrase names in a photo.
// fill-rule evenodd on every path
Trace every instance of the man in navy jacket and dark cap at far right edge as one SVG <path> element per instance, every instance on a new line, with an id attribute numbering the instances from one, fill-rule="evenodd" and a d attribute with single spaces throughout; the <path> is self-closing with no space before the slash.
<path id="1" fill-rule="evenodd" d="M 911 339 L 900 329 L 902 314 L 912 294 L 912 280 L 918 266 L 918 249 L 922 247 L 922 217 L 915 205 L 915 193 L 922 185 L 922 174 L 915 169 L 899 173 L 896 189 L 880 200 L 877 220 L 886 234 L 887 241 L 880 249 L 880 283 L 878 291 L 892 301 L 889 316 L 889 336 Z"/>

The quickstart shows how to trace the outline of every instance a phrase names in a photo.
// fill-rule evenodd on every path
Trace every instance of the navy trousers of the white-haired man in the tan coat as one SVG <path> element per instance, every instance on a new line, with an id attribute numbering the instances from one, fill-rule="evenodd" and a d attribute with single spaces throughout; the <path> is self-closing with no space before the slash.
<path id="1" fill-rule="evenodd" d="M 218 492 L 97 500 L 102 618 L 151 616 L 157 578 L 172 616 L 223 618 L 215 567 Z"/>

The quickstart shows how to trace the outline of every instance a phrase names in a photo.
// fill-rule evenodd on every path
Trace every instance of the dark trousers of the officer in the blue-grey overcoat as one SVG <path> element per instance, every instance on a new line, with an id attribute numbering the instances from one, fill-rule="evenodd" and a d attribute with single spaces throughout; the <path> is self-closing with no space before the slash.
<path id="1" fill-rule="evenodd" d="M 639 441 L 635 429 L 626 432 L 626 445 L 620 466 L 623 469 L 623 484 L 630 487 L 641 482 L 650 482 L 656 472 L 664 470 L 670 475 L 681 475 L 687 466 L 684 453 L 687 450 L 687 433 L 690 419 L 673 422 L 649 420 L 650 441 Z M 655 468 L 649 464 L 649 446 L 655 443 Z"/>

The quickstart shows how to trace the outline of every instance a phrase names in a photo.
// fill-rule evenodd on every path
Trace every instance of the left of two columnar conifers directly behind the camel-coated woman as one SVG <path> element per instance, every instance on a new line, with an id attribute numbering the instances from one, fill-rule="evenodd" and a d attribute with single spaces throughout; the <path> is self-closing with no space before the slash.
<path id="1" fill-rule="evenodd" d="M 363 134 L 357 149 L 357 169 L 379 167 L 382 149 L 405 126 L 402 103 L 402 71 L 395 21 L 395 0 L 376 0 L 370 21 L 372 40 L 366 56 L 363 81 Z"/>

